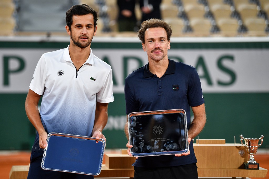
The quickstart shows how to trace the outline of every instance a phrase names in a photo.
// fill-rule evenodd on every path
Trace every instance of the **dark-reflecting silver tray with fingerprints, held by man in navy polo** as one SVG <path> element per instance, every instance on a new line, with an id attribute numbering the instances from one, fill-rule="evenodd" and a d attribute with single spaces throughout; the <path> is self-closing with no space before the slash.
<path id="1" fill-rule="evenodd" d="M 183 109 L 133 112 L 128 115 L 130 153 L 135 157 L 182 154 L 189 151 Z"/>

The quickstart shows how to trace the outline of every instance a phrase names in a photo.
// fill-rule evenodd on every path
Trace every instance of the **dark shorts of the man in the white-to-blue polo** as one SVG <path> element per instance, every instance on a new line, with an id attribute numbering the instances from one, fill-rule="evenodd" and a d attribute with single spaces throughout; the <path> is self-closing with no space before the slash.
<path id="1" fill-rule="evenodd" d="M 41 168 L 43 153 L 32 151 L 27 179 L 93 179 L 91 175 L 43 170 Z"/>

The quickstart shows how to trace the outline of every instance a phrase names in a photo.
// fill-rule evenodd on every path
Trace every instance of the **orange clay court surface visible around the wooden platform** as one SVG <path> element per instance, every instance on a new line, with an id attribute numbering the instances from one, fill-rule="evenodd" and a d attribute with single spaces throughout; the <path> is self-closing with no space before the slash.
<path id="1" fill-rule="evenodd" d="M 105 153 L 119 153 L 120 150 L 106 150 Z M 259 150 L 258 150 L 259 152 Z M 13 165 L 28 165 L 30 163 L 30 151 L 0 151 L 0 179 L 8 179 L 9 171 Z M 260 152 L 254 155 L 260 167 L 269 169 L 269 152 Z M 104 157 L 105 159 L 105 157 Z M 103 160 L 104 163 L 104 160 Z M 262 179 L 262 178 L 252 178 Z M 269 172 L 264 179 L 269 179 Z"/>

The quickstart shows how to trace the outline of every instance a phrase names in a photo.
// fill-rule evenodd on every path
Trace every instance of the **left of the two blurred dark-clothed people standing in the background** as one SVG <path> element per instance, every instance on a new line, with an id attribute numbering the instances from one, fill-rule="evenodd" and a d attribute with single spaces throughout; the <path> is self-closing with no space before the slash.
<path id="1" fill-rule="evenodd" d="M 137 31 L 136 15 L 134 12 L 136 0 L 117 0 L 119 8 L 118 27 L 119 31 Z"/>

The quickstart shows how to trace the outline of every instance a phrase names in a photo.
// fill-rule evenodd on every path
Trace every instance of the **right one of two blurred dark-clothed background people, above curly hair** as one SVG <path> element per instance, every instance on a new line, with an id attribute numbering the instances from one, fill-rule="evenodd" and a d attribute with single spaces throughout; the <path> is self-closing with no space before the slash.
<path id="1" fill-rule="evenodd" d="M 139 0 L 140 9 L 142 11 L 141 22 L 148 19 L 161 19 L 161 0 Z"/>

